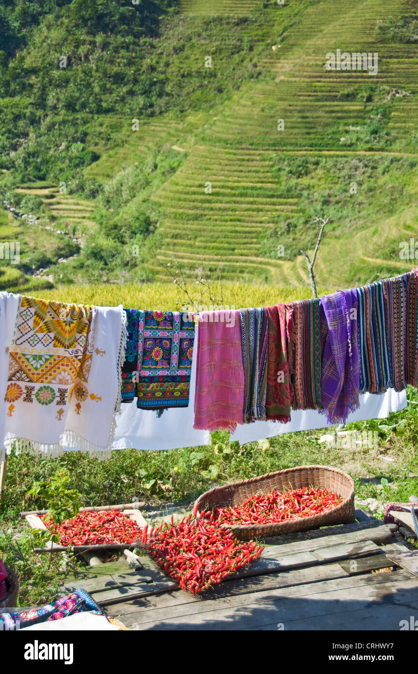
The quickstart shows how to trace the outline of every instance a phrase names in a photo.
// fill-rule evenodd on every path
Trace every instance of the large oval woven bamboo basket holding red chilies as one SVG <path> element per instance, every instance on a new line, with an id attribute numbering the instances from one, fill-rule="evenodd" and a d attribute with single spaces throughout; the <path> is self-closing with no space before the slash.
<path id="1" fill-rule="evenodd" d="M 224 528 L 234 531 L 238 539 L 249 541 L 250 539 L 263 539 L 266 537 L 279 536 L 293 531 L 307 531 L 318 529 L 320 526 L 330 524 L 346 524 L 354 522 L 354 482 L 347 473 L 338 468 L 329 466 L 298 466 L 298 468 L 286 468 L 277 472 L 269 472 L 266 475 L 252 477 L 242 482 L 234 482 L 224 487 L 216 487 L 205 492 L 195 502 L 199 511 L 212 510 L 212 508 L 225 508 L 229 505 L 239 505 L 248 496 L 257 493 L 267 493 L 272 489 L 280 491 L 286 489 L 302 489 L 302 487 L 328 487 L 343 497 L 342 503 L 329 512 L 322 512 L 300 520 L 286 520 L 285 522 L 272 522 L 269 524 L 236 524 Z"/>

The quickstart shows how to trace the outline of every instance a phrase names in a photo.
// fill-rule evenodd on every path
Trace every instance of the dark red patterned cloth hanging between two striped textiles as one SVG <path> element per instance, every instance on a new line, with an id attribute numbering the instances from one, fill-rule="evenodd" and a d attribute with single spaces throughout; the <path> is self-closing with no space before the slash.
<path id="1" fill-rule="evenodd" d="M 266 419 L 288 423 L 293 391 L 289 376 L 289 345 L 292 333 L 291 305 L 267 307 L 269 352 L 267 356 Z"/>

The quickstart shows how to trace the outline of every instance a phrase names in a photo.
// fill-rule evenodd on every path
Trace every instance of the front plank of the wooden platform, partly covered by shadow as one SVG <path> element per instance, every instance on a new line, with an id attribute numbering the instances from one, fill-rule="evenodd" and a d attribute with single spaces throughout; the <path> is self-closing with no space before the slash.
<path id="1" fill-rule="evenodd" d="M 243 630 L 259 629 L 278 623 L 291 629 L 291 621 L 302 617 L 308 624 L 324 629 L 322 619 L 326 617 L 330 628 L 335 621 L 330 616 L 354 612 L 360 615 L 364 609 L 382 605 L 405 604 L 400 613 L 410 613 L 411 603 L 418 606 L 418 584 L 405 571 L 382 574 L 349 576 L 336 580 L 325 580 L 309 585 L 217 598 L 217 601 L 189 602 L 162 609 L 148 609 L 137 620 L 127 621 L 140 630 Z M 405 615 L 404 615 L 405 617 Z M 392 625 L 392 629 L 396 629 Z"/>

